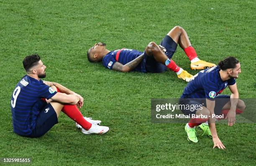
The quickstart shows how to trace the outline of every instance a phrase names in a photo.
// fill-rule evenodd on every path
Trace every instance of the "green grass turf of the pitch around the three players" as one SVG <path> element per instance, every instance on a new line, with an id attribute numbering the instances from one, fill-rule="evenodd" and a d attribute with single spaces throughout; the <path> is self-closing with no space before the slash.
<path id="1" fill-rule="evenodd" d="M 151 99 L 179 98 L 186 86 L 175 73 L 120 73 L 86 57 L 99 41 L 143 51 L 179 25 L 201 59 L 237 57 L 240 97 L 256 98 L 255 8 L 254 0 L 0 0 L 0 157 L 29 157 L 32 165 L 255 165 L 255 124 L 217 124 L 224 151 L 207 136 L 192 144 L 184 124 L 151 123 Z M 25 74 L 23 58 L 33 53 L 47 66 L 46 80 L 81 94 L 82 113 L 110 126 L 107 134 L 84 135 L 64 114 L 39 139 L 13 133 L 10 97 Z M 197 73 L 182 49 L 173 59 Z"/>

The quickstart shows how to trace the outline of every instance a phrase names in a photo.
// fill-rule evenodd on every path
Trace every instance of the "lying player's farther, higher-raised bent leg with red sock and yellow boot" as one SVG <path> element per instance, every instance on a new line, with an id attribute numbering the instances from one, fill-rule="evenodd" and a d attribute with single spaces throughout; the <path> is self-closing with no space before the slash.
<path id="1" fill-rule="evenodd" d="M 191 69 L 205 69 L 207 67 L 215 66 L 215 64 L 205 62 L 197 57 L 197 53 L 194 47 L 191 46 L 187 32 L 182 27 L 176 26 L 172 28 L 167 35 L 172 37 L 174 42 L 178 43 L 179 46 L 184 50 L 187 57 L 191 61 Z"/>

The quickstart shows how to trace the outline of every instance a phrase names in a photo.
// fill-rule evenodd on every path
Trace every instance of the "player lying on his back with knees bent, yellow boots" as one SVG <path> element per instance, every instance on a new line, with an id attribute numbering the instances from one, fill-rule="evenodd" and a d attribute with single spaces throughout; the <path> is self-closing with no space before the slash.
<path id="1" fill-rule="evenodd" d="M 179 26 L 172 28 L 159 46 L 154 42 L 150 42 L 144 53 L 131 49 L 110 51 L 106 49 L 105 43 L 99 42 L 88 50 L 87 58 L 90 62 L 102 61 L 104 67 L 120 72 L 161 73 L 169 68 L 177 74 L 178 78 L 188 82 L 193 76 L 177 66 L 172 60 L 178 44 L 191 61 L 191 69 L 205 69 L 215 66 L 215 64 L 205 62 L 197 57 L 187 32 Z"/>

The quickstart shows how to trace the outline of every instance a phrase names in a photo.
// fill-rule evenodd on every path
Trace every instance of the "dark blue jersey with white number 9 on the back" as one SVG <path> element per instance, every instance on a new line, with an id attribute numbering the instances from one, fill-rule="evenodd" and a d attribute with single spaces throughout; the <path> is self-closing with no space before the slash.
<path id="1" fill-rule="evenodd" d="M 42 80 L 24 76 L 16 85 L 11 98 L 13 131 L 23 136 L 31 135 L 40 111 L 36 103 L 42 98 L 50 99 L 56 93 Z"/>

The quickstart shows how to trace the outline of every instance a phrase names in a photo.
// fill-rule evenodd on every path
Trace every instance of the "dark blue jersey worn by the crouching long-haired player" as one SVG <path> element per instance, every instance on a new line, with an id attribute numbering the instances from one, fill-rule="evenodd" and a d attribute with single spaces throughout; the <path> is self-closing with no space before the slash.
<path id="1" fill-rule="evenodd" d="M 218 66 L 205 69 L 197 73 L 185 87 L 181 98 L 206 98 L 213 99 L 218 96 L 228 85 L 236 83 L 234 78 L 222 81 Z"/>

